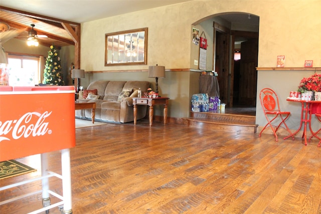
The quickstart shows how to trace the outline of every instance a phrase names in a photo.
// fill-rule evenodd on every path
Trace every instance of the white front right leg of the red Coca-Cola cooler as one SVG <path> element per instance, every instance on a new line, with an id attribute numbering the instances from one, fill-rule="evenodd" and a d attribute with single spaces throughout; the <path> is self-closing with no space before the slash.
<path id="1" fill-rule="evenodd" d="M 64 214 L 72 213 L 71 201 L 71 173 L 70 173 L 70 152 L 69 149 L 61 150 L 61 171 L 64 207 L 61 210 Z"/>

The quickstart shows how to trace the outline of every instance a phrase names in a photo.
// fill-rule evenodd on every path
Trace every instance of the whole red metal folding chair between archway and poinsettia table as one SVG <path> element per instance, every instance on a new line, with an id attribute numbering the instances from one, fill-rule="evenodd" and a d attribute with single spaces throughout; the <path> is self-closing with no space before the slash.
<path id="1" fill-rule="evenodd" d="M 261 106 L 263 109 L 263 113 L 264 116 L 267 120 L 267 124 L 264 126 L 264 128 L 262 129 L 262 131 L 259 134 L 259 137 L 261 137 L 262 132 L 269 127 L 271 127 L 272 132 L 275 136 L 275 141 L 277 141 L 277 135 L 276 135 L 276 131 L 282 127 L 285 128 L 290 134 L 291 131 L 290 129 L 287 127 L 285 120 L 288 118 L 288 116 L 291 114 L 291 112 L 288 111 L 280 111 L 280 106 L 279 106 L 279 99 L 275 93 L 275 91 L 273 91 L 270 88 L 263 88 L 260 92 L 260 101 L 261 101 Z M 279 120 L 276 120 L 276 118 L 278 118 L 278 116 L 280 116 L 280 120 L 281 122 L 279 124 L 277 124 L 277 122 Z M 274 121 L 275 120 L 275 121 Z M 273 124 L 276 123 L 276 125 Z M 284 127 L 282 126 L 282 123 L 284 124 Z M 292 136 L 292 139 L 293 136 Z"/>

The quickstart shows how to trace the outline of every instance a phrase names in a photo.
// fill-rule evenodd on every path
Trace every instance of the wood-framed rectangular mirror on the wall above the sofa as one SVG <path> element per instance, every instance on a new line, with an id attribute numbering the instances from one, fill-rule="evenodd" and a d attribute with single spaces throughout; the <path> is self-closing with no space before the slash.
<path id="1" fill-rule="evenodd" d="M 105 66 L 147 64 L 147 28 L 105 34 Z"/>

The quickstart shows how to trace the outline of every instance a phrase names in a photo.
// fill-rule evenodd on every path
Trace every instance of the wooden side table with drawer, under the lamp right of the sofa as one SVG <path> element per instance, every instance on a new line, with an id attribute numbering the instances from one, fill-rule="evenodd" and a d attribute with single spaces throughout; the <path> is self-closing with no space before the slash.
<path id="1" fill-rule="evenodd" d="M 134 106 L 134 124 L 137 121 L 137 105 L 148 105 L 149 106 L 149 126 L 152 125 L 152 118 L 154 115 L 154 105 L 164 105 L 164 124 L 167 122 L 167 106 L 169 104 L 168 97 L 157 97 L 157 98 L 147 98 L 147 97 L 133 97 L 132 104 Z"/>

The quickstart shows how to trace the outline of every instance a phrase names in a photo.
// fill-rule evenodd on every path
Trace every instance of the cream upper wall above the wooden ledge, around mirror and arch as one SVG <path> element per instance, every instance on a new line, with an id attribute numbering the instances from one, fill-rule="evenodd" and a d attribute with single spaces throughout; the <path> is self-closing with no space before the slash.
<path id="1" fill-rule="evenodd" d="M 315 48 L 321 36 L 316 30 L 321 28 L 320 9 L 320 1 L 192 1 L 87 22 L 82 24 L 81 67 L 87 71 L 146 69 L 154 64 L 190 68 L 191 25 L 227 12 L 260 17 L 259 67 L 275 67 L 281 54 L 287 56 L 287 67 L 302 67 L 307 58 L 321 66 L 321 50 Z M 148 65 L 105 67 L 104 34 L 143 27 L 148 28 Z"/>

